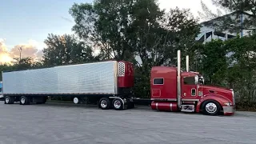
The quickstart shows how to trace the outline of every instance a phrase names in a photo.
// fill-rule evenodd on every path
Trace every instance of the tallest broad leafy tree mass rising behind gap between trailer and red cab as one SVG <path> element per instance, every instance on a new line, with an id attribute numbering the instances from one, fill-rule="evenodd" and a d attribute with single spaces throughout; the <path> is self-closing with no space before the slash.
<path id="1" fill-rule="evenodd" d="M 194 44 L 199 26 L 189 12 L 176 8 L 166 13 L 155 0 L 96 0 L 70 8 L 76 22 L 72 30 L 97 46 L 103 59 L 134 62 L 135 91 L 146 96 L 151 67 L 174 64 L 177 50 L 188 53 Z"/>

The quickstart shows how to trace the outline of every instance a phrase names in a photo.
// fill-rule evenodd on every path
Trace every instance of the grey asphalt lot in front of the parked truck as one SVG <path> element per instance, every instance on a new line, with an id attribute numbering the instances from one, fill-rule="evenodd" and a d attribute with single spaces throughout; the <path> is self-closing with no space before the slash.
<path id="1" fill-rule="evenodd" d="M 0 103 L 0 144 L 77 143 L 256 143 L 256 113 L 206 116 L 133 110 L 100 110 L 97 106 Z"/>

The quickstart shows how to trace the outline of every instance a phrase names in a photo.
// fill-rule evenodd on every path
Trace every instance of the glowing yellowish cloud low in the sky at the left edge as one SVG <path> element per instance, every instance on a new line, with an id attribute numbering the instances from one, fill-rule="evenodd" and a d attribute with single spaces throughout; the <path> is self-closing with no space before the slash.
<path id="1" fill-rule="evenodd" d="M 22 51 L 19 48 L 22 47 Z M 20 52 L 22 58 L 33 58 L 34 61 L 37 61 L 42 58 L 42 49 L 45 45 L 42 42 L 37 42 L 30 39 L 26 43 L 18 44 L 12 47 L 10 50 L 6 47 L 6 40 L 0 38 L 0 64 L 11 63 L 14 61 L 14 58 L 20 57 Z"/>

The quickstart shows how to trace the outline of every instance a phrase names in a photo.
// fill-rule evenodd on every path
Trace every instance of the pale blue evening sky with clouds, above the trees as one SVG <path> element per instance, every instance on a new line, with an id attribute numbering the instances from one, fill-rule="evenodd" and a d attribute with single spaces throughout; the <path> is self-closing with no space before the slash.
<path id="1" fill-rule="evenodd" d="M 6 0 L 0 4 L 0 63 L 22 56 L 40 57 L 47 34 L 73 34 L 73 18 L 70 7 L 76 3 L 92 0 Z M 190 8 L 198 16 L 202 11 L 201 0 L 158 0 L 162 9 Z M 203 0 L 211 6 L 210 0 Z"/>

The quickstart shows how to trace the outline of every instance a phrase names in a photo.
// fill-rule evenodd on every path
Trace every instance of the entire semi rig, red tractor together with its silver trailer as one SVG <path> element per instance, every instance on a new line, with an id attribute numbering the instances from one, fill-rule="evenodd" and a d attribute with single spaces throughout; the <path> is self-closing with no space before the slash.
<path id="1" fill-rule="evenodd" d="M 72 97 L 74 103 L 98 103 L 107 110 L 134 107 L 134 67 L 130 62 L 94 62 L 54 66 L 36 70 L 2 72 L 2 95 L 5 104 L 45 103 L 48 97 Z M 150 103 L 153 110 L 234 114 L 234 90 L 205 86 L 201 74 L 178 67 L 154 66 L 150 72 Z"/>

